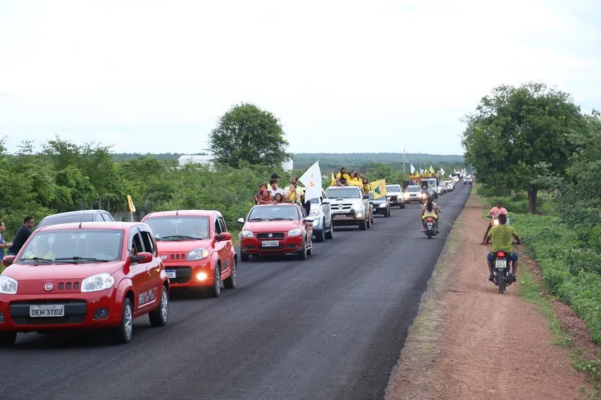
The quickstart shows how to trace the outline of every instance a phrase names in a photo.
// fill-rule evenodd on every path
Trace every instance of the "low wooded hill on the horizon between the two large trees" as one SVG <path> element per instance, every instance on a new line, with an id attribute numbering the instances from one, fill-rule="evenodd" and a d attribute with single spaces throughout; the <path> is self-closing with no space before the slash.
<path id="1" fill-rule="evenodd" d="M 442 167 L 459 168 L 464 167 L 464 156 L 459 154 L 441 155 L 441 154 L 407 154 L 406 170 L 409 170 L 409 164 L 415 168 L 428 168 L 433 165 L 438 169 Z M 315 161 L 319 161 L 321 170 L 339 169 L 340 165 L 347 168 L 360 170 L 370 163 L 385 163 L 395 169 L 403 168 L 402 153 L 296 153 L 292 156 L 295 162 L 295 169 L 304 169 L 309 167 Z"/>

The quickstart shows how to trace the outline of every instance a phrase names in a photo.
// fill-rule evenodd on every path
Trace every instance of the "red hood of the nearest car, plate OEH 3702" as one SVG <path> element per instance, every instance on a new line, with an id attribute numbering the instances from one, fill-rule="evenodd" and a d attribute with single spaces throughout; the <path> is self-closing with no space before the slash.
<path id="1" fill-rule="evenodd" d="M 124 261 L 85 264 L 13 264 L 2 275 L 18 281 L 23 280 L 82 280 L 99 273 L 115 273 L 123 267 Z"/>

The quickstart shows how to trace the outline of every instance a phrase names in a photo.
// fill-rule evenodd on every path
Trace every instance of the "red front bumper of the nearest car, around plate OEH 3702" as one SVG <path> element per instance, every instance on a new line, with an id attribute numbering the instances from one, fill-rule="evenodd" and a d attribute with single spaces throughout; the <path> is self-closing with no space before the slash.
<path id="1" fill-rule="evenodd" d="M 62 304 L 64 316 L 30 317 L 30 306 L 50 304 Z M 4 323 L 0 323 L 0 332 L 116 327 L 121 323 L 122 307 L 123 293 L 114 288 L 92 293 L 1 294 Z M 99 308 L 108 309 L 106 318 L 94 319 Z"/>

